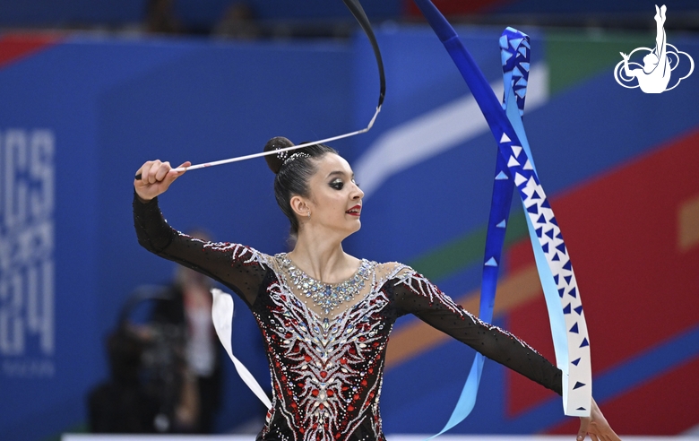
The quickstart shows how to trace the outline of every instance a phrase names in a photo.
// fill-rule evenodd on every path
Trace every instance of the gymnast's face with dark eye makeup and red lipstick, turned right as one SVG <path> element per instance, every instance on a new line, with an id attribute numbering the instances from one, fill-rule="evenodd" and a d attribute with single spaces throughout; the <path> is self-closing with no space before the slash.
<path id="1" fill-rule="evenodd" d="M 342 231 L 349 236 L 361 227 L 364 192 L 354 182 L 350 164 L 341 156 L 327 153 L 316 163 L 318 169 L 308 182 L 310 197 L 306 204 L 311 219 L 307 222 L 314 229 Z"/>

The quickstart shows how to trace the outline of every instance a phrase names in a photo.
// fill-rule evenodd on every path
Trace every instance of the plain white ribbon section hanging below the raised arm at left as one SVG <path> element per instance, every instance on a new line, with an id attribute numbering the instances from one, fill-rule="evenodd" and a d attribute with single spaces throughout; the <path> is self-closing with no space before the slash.
<path id="1" fill-rule="evenodd" d="M 213 327 L 216 329 L 216 334 L 219 336 L 220 343 L 229 353 L 230 359 L 233 360 L 233 365 L 236 367 L 237 375 L 243 379 L 247 387 L 267 406 L 267 409 L 272 409 L 272 402 L 264 393 L 263 388 L 255 380 L 249 370 L 236 359 L 233 355 L 233 346 L 231 343 L 231 335 L 233 333 L 233 298 L 229 294 L 217 288 L 211 289 L 213 296 L 213 304 L 211 305 L 211 319 Z"/>

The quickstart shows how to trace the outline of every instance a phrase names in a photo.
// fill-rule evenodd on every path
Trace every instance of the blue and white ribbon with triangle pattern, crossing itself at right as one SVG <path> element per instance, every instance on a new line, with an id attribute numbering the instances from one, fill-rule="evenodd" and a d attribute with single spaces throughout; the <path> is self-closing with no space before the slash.
<path id="1" fill-rule="evenodd" d="M 509 211 L 508 198 L 516 186 L 526 213 L 539 279 L 547 301 L 557 367 L 563 372 L 564 411 L 570 416 L 589 416 L 590 343 L 580 293 L 561 230 L 534 169 L 522 125 L 530 66 L 529 39 L 511 28 L 505 30 L 500 39 L 505 76 L 505 99 L 501 107 L 478 65 L 435 5 L 429 0 L 415 0 L 415 3 L 452 56 L 498 144 L 494 206 L 488 220 L 480 315 L 484 319 L 492 319 L 497 268 Z M 482 366 L 483 357 L 477 354 L 452 416 L 437 435 L 453 428 L 469 415 L 475 404 Z"/>

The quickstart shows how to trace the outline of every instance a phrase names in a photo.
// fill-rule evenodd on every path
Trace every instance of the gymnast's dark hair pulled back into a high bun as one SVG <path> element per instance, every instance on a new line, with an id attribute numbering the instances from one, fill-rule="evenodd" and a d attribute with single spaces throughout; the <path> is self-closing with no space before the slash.
<path id="1" fill-rule="evenodd" d="M 264 145 L 264 151 L 284 149 L 293 146 L 287 138 L 276 136 Z M 276 155 L 267 155 L 267 165 L 272 169 L 274 177 L 274 197 L 281 211 L 291 222 L 291 236 L 298 234 L 298 219 L 291 209 L 291 197 L 295 195 L 308 197 L 308 180 L 317 171 L 315 160 L 326 153 L 338 154 L 335 149 L 325 144 L 313 144 L 297 150 L 283 151 Z"/>

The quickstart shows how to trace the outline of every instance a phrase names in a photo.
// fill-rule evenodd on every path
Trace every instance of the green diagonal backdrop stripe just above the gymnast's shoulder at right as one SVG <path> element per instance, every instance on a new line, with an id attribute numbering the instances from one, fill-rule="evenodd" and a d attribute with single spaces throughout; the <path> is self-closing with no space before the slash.
<path id="1" fill-rule="evenodd" d="M 483 226 L 461 238 L 456 238 L 453 242 L 413 260 L 410 266 L 425 275 L 427 279 L 436 281 L 465 270 L 473 264 L 482 264 L 486 248 L 486 231 L 487 227 Z M 523 212 L 521 210 L 513 212 L 510 223 L 507 225 L 505 247 L 528 235 L 527 221 L 524 219 Z"/>

